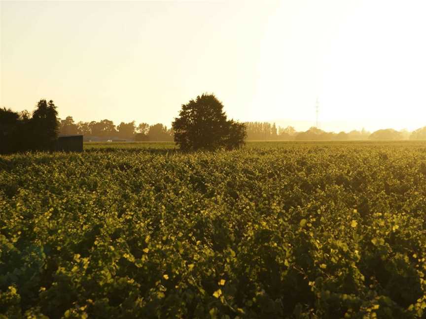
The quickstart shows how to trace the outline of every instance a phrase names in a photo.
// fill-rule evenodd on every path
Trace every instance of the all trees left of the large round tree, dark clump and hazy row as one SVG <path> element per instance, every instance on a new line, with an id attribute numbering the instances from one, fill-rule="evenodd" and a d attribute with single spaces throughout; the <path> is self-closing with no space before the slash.
<path id="1" fill-rule="evenodd" d="M 26 151 L 54 151 L 58 135 L 84 136 L 85 141 L 135 140 L 173 141 L 173 129 L 161 123 L 149 125 L 135 121 L 110 120 L 75 123 L 72 116 L 58 118 L 57 106 L 52 100 L 41 99 L 33 112 L 0 108 L 0 154 Z"/>

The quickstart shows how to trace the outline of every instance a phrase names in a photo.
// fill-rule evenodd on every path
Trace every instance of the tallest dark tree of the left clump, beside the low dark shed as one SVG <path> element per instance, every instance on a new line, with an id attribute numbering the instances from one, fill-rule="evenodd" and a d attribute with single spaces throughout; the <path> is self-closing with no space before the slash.
<path id="1" fill-rule="evenodd" d="M 53 151 L 58 138 L 58 112 L 52 100 L 41 99 L 30 120 L 32 149 Z"/>

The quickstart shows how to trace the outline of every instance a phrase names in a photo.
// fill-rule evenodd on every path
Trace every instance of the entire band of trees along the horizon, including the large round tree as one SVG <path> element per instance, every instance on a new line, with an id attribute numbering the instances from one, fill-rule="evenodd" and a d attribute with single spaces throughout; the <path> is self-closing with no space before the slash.
<path id="1" fill-rule="evenodd" d="M 58 118 L 57 107 L 52 100 L 41 99 L 36 109 L 14 112 L 0 108 L 0 154 L 23 151 L 52 151 L 58 134 L 81 134 L 85 141 L 175 141 L 181 149 L 214 149 L 240 147 L 245 140 L 426 140 L 426 127 L 413 132 L 392 128 L 370 133 L 362 129 L 339 133 L 327 132 L 316 127 L 297 131 L 275 123 L 227 120 L 222 103 L 214 95 L 203 94 L 182 105 L 179 117 L 172 128 L 161 123 L 148 125 L 121 122 L 114 125 L 110 120 L 75 123 L 72 116 Z"/>

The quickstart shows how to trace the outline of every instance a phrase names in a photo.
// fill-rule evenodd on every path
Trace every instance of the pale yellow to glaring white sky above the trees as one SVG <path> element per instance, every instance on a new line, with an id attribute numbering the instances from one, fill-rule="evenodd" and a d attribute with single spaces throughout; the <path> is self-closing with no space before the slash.
<path id="1" fill-rule="evenodd" d="M 229 118 L 306 130 L 426 126 L 425 0 L 0 1 L 0 106 L 170 127 L 214 93 Z"/>

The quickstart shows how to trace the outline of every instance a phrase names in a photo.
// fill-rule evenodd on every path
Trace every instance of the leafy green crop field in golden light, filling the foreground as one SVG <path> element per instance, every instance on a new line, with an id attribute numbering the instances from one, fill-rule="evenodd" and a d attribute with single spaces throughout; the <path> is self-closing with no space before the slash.
<path id="1" fill-rule="evenodd" d="M 0 156 L 0 318 L 426 318 L 426 142 Z"/>

